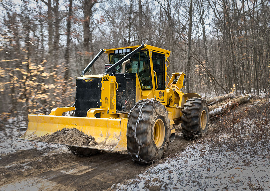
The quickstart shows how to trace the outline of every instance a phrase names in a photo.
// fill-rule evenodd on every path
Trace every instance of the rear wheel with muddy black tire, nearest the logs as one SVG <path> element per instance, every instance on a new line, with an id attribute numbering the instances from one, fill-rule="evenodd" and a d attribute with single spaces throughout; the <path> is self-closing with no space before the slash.
<path id="1" fill-rule="evenodd" d="M 182 133 L 186 139 L 198 139 L 207 132 L 209 112 L 204 99 L 191 98 L 187 100 L 182 113 Z"/>

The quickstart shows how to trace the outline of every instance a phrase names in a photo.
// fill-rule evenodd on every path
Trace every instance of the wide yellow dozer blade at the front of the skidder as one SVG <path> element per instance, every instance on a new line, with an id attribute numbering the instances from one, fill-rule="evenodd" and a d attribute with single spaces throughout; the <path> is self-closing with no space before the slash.
<path id="1" fill-rule="evenodd" d="M 86 135 L 94 137 L 97 145 L 74 145 L 66 144 L 63 141 L 41 141 L 48 143 L 57 143 L 68 146 L 78 146 L 84 148 L 121 151 L 126 150 L 126 127 L 127 119 L 114 118 L 90 118 L 90 117 L 74 117 L 74 116 L 55 116 L 55 115 L 28 115 L 28 127 L 24 135 L 19 137 L 22 140 L 36 140 L 36 137 L 50 135 L 56 131 L 61 131 L 63 128 L 76 128 Z"/>

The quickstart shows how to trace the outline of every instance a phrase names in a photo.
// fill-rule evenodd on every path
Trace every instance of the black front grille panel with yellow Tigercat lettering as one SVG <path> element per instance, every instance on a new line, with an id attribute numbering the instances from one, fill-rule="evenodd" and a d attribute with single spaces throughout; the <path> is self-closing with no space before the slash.
<path id="1" fill-rule="evenodd" d="M 101 78 L 76 79 L 75 116 L 86 117 L 89 109 L 101 106 L 101 86 Z"/>

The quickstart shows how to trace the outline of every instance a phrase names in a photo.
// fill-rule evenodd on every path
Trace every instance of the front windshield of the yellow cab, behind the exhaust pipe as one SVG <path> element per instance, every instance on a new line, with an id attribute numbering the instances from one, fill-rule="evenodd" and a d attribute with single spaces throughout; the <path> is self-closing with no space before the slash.
<path id="1" fill-rule="evenodd" d="M 111 54 L 110 62 L 111 64 L 115 64 L 117 61 L 122 59 L 127 54 Z M 130 58 L 130 64 L 126 65 L 125 73 L 137 73 L 140 82 L 142 85 L 142 89 L 151 89 L 151 79 L 150 79 L 150 70 L 148 63 L 147 51 L 140 51 L 135 53 Z M 116 73 L 122 73 L 122 64 L 115 68 Z"/>

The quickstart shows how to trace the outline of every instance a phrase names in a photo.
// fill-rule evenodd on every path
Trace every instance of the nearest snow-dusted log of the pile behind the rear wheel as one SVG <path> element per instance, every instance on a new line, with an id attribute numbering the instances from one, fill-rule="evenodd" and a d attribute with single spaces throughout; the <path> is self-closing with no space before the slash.
<path id="1" fill-rule="evenodd" d="M 233 108 L 237 104 L 244 104 L 249 102 L 249 100 L 252 99 L 252 95 L 248 94 L 246 96 L 242 96 L 240 98 L 235 98 L 232 100 L 229 100 L 228 102 L 225 102 L 225 104 L 214 104 L 212 106 L 208 106 L 209 115 L 216 115 L 220 114 L 225 110 L 225 108 Z"/>

